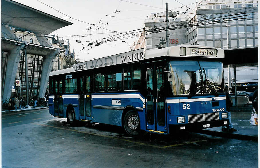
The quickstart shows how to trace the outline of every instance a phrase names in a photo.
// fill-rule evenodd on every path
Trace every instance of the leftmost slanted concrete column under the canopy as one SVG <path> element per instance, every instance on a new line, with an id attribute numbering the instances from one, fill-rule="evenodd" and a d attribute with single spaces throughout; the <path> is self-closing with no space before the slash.
<path id="1" fill-rule="evenodd" d="M 21 59 L 21 47 L 14 46 L 12 50 L 9 51 L 7 56 L 6 71 L 5 71 L 5 81 L 3 86 L 2 100 L 10 99 L 12 86 L 15 82 L 15 76 L 17 72 L 17 67 Z"/>

